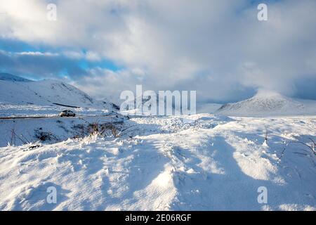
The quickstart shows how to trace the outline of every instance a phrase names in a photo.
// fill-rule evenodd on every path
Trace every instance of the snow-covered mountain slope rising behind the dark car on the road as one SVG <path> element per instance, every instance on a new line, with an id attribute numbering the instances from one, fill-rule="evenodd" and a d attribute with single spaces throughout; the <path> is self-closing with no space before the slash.
<path id="1" fill-rule="evenodd" d="M 83 108 L 113 109 L 111 103 L 96 101 L 76 87 L 57 80 L 30 81 L 1 74 L 0 102 L 14 105 L 72 105 Z"/>

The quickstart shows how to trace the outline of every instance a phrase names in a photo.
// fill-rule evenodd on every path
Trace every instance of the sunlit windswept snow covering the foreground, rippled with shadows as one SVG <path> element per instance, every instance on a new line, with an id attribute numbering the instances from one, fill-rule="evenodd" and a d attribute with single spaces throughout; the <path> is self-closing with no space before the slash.
<path id="1" fill-rule="evenodd" d="M 316 117 L 138 117 L 129 135 L 0 148 L 0 210 L 316 210 Z M 265 143 L 265 129 L 268 141 Z M 129 137 L 132 136 L 132 137 Z M 57 189 L 48 204 L 47 188 Z M 258 188 L 268 203 L 258 203 Z"/>

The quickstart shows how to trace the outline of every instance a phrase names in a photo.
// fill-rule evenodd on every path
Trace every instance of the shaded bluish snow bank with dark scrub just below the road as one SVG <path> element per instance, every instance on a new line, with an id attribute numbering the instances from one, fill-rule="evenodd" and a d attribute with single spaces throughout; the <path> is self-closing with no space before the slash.
<path id="1" fill-rule="evenodd" d="M 89 124 L 107 124 L 125 119 L 112 113 L 108 116 L 0 119 L 0 147 L 34 143 L 44 134 L 48 136 L 45 143 L 65 141 L 74 136 L 86 135 Z"/>

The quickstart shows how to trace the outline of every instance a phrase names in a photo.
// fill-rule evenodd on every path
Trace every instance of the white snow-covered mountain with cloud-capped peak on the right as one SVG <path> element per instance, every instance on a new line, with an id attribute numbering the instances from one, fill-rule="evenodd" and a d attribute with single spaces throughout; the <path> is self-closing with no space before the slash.
<path id="1" fill-rule="evenodd" d="M 316 115 L 316 101 L 288 98 L 271 91 L 259 91 L 252 98 L 223 105 L 216 113 L 232 116 Z"/>

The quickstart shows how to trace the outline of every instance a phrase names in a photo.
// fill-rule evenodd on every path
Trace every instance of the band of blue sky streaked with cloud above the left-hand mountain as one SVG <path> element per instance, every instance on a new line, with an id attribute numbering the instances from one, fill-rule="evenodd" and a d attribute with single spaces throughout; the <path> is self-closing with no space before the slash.
<path id="1" fill-rule="evenodd" d="M 0 49 L 4 51 L 0 52 L 1 72 L 18 74 L 34 80 L 48 77 L 49 79 L 60 79 L 65 76 L 76 79 L 88 75 L 86 71 L 89 68 L 105 68 L 114 72 L 122 69 L 122 67 L 118 67 L 106 58 L 96 61 L 86 60 L 85 58 L 69 58 L 63 56 L 62 52 L 70 51 L 70 49 L 55 48 L 44 44 L 29 44 L 16 39 L 0 39 Z M 76 49 L 76 52 L 85 54 L 86 50 Z M 15 55 L 18 53 L 25 53 L 25 55 Z M 26 53 L 51 53 L 52 56 L 27 55 Z M 30 70 L 27 70 L 29 67 Z"/>

